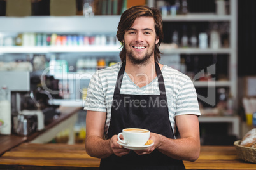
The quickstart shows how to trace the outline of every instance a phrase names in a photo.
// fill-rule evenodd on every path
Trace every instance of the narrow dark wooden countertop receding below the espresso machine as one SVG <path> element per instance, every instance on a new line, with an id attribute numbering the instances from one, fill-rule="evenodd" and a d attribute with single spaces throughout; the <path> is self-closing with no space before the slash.
<path id="1" fill-rule="evenodd" d="M 50 129 L 54 128 L 58 124 L 63 121 L 66 121 L 70 117 L 72 117 L 78 110 L 81 110 L 82 107 L 59 107 L 60 116 L 55 121 L 51 122 L 43 131 L 37 131 L 29 136 L 18 136 L 16 134 L 11 135 L 0 135 L 0 155 L 4 154 L 4 152 L 10 150 L 13 147 L 17 147 L 21 143 L 32 141 L 42 134 L 46 134 Z"/>

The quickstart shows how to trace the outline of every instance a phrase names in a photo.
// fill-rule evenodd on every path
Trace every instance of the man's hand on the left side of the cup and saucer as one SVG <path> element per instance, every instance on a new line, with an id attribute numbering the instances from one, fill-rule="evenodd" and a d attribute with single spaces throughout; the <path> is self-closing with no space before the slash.
<path id="1" fill-rule="evenodd" d="M 118 157 L 122 157 L 128 154 L 130 150 L 119 145 L 117 141 L 117 135 L 112 136 L 112 138 L 110 139 L 110 148 L 111 150 L 113 150 L 114 154 L 117 155 Z"/>

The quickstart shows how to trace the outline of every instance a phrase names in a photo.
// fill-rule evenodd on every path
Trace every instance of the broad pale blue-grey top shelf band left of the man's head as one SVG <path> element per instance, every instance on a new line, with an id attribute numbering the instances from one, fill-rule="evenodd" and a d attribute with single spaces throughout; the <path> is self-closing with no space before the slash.
<path id="1" fill-rule="evenodd" d="M 1 32 L 117 34 L 119 15 L 0 17 Z"/>

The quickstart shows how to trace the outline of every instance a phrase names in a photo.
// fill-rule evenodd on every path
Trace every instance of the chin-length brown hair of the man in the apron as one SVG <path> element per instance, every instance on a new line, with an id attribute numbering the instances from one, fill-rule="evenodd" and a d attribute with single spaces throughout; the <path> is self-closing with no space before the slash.
<path id="1" fill-rule="evenodd" d="M 136 18 L 142 16 L 152 17 L 155 21 L 155 33 L 159 38 L 159 42 L 155 44 L 155 62 L 158 62 L 161 58 L 161 53 L 158 47 L 164 38 L 164 33 L 162 30 L 162 15 L 160 11 L 157 10 L 157 8 L 149 8 L 148 6 L 132 6 L 128 10 L 124 11 L 124 13 L 122 13 L 120 22 L 117 27 L 117 39 L 122 44 L 122 51 L 119 54 L 122 62 L 125 62 L 126 58 L 126 49 L 124 48 L 124 34 L 129 28 L 131 28 Z"/>

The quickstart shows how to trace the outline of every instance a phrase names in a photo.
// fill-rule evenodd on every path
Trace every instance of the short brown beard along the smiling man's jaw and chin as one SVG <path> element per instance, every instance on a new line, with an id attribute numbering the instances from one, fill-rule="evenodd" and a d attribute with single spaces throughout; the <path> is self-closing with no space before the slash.
<path id="1" fill-rule="evenodd" d="M 150 57 L 153 55 L 155 51 L 155 46 L 148 49 L 148 51 L 146 51 L 145 55 L 142 58 L 137 58 L 136 55 L 134 55 L 134 53 L 132 52 L 132 50 L 127 50 L 127 49 L 128 48 L 126 48 L 126 51 L 127 51 L 126 56 L 128 60 L 130 60 L 134 65 L 145 65 L 146 63 L 148 63 L 148 60 L 150 59 Z"/>

